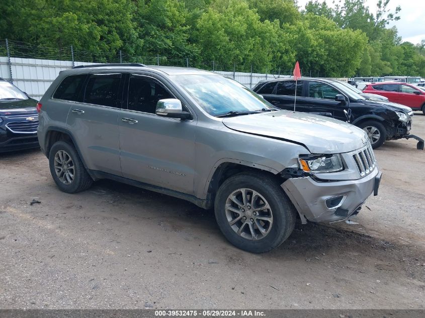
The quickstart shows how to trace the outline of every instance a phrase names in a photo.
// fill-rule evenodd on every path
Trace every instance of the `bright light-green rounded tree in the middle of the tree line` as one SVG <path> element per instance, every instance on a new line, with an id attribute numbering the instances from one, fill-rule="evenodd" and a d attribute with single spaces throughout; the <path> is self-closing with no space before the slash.
<path id="1" fill-rule="evenodd" d="M 278 30 L 278 23 L 262 23 L 246 2 L 217 0 L 197 22 L 194 39 L 204 61 L 270 69 Z"/>

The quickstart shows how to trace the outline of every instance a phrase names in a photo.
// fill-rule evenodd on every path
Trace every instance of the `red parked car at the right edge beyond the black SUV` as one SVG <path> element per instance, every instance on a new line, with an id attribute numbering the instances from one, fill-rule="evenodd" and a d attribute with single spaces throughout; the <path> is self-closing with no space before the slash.
<path id="1" fill-rule="evenodd" d="M 389 101 L 422 111 L 425 115 L 425 89 L 422 87 L 400 82 L 378 82 L 368 83 L 363 91 L 385 96 Z"/>

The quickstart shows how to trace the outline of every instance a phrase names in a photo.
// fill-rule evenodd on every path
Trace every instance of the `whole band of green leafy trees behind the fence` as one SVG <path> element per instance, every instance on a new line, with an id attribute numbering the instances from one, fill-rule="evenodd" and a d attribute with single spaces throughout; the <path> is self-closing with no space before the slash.
<path id="1" fill-rule="evenodd" d="M 159 55 L 161 63 L 187 58 L 228 70 L 289 73 L 298 60 L 304 75 L 425 76 L 425 40 L 403 43 L 388 29 L 400 19 L 390 1 L 3 0 L 0 38 L 31 44 L 25 54 L 34 56 L 72 45 L 75 59 L 95 62 L 121 52 L 125 61 Z"/>

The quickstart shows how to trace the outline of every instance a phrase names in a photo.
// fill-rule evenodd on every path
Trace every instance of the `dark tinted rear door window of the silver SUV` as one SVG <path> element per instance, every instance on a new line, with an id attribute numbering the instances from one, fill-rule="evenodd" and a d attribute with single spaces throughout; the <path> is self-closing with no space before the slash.
<path id="1" fill-rule="evenodd" d="M 121 74 L 92 74 L 84 93 L 84 102 L 117 107 Z"/>

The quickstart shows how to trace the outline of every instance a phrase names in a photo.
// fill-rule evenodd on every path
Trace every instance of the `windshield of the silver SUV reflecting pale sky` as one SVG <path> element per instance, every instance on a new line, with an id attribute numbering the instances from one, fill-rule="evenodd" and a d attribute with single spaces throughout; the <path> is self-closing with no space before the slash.
<path id="1" fill-rule="evenodd" d="M 261 96 L 233 79 L 217 75 L 171 77 L 212 116 L 275 109 Z"/>

